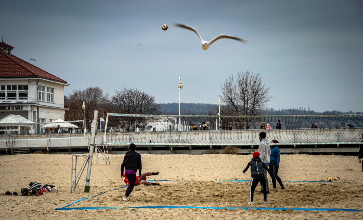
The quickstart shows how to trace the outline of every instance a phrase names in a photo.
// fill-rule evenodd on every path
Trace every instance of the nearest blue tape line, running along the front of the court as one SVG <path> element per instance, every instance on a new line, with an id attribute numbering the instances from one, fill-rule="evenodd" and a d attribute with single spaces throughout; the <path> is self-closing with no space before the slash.
<path id="1" fill-rule="evenodd" d="M 358 212 L 362 209 L 348 209 L 348 208 L 276 208 L 276 207 L 204 207 L 204 206 L 136 206 L 136 207 L 75 207 L 75 208 L 56 208 L 56 210 L 73 210 L 73 209 L 114 209 L 114 208 L 203 208 L 203 209 L 265 209 L 265 210 L 302 210 L 302 211 L 347 211 Z"/>

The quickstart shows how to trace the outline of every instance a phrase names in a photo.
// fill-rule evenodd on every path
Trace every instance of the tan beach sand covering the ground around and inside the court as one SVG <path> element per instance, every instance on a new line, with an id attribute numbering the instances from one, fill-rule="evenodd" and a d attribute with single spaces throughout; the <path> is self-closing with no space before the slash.
<path id="1" fill-rule="evenodd" d="M 143 172 L 160 171 L 151 179 L 171 180 L 160 186 L 136 186 L 122 201 L 126 188 L 105 192 L 81 200 L 69 207 L 285 207 L 363 209 L 362 165 L 356 156 L 281 155 L 279 176 L 285 190 L 272 189 L 268 204 L 263 195 L 254 194 L 249 202 L 250 182 L 216 182 L 216 180 L 251 180 L 250 171 L 242 172 L 250 155 L 152 155 L 142 154 Z M 292 209 L 186 209 L 186 208 L 118 208 L 89 210 L 55 210 L 79 199 L 113 190 L 124 184 L 120 177 L 123 155 L 110 155 L 111 165 L 99 156 L 93 158 L 90 192 L 85 193 L 86 170 L 76 192 L 70 193 L 71 155 L 24 154 L 0 156 L 0 219 L 360 219 L 363 211 L 294 211 Z M 78 159 L 78 168 L 83 159 Z M 285 182 L 286 180 L 318 180 L 339 176 L 333 183 Z M 183 180 L 183 181 L 176 181 Z M 40 196 L 20 196 L 20 189 L 30 182 L 53 184 L 59 192 Z M 342 183 L 347 182 L 347 183 Z M 277 184 L 278 185 L 278 184 Z M 5 195 L 16 191 L 19 196 Z"/>

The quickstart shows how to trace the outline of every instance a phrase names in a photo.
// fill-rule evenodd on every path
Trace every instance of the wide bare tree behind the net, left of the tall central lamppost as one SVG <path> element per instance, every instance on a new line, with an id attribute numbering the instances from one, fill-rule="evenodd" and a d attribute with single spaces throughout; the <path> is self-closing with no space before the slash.
<path id="1" fill-rule="evenodd" d="M 122 90 L 115 90 L 115 94 L 108 99 L 105 109 L 112 113 L 159 114 L 161 106 L 155 102 L 155 99 L 154 96 L 138 89 L 123 87 Z M 114 126 L 129 131 L 130 122 L 134 123 L 136 117 L 118 117 L 117 120 Z M 137 121 L 139 128 L 144 128 L 150 122 L 146 118 L 138 118 Z"/>

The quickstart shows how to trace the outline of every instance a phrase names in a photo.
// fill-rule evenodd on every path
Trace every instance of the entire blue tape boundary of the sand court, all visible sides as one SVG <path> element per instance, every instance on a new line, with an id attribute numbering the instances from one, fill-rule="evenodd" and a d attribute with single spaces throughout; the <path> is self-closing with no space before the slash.
<path id="1" fill-rule="evenodd" d="M 148 181 L 171 181 L 171 180 L 148 180 Z M 185 180 L 176 180 L 176 181 L 182 181 L 184 182 Z M 215 180 L 215 182 L 251 182 L 252 180 Z M 271 182 L 271 180 L 269 180 L 269 182 Z M 312 182 L 312 183 L 347 183 L 347 182 L 328 182 L 328 181 L 313 181 L 313 180 L 286 180 L 286 182 Z M 353 183 L 360 183 L 360 182 L 353 182 Z M 254 209 L 274 209 L 274 210 L 287 210 L 287 209 L 293 209 L 293 210 L 312 210 L 312 211 L 363 211 L 360 209 L 329 209 L 329 208 L 265 208 L 265 207 L 197 207 L 197 206 L 140 206 L 140 207 L 74 207 L 74 208 L 66 208 L 69 205 L 72 205 L 74 203 L 77 203 L 79 201 L 88 199 L 88 198 L 93 198 L 99 195 L 102 195 L 105 192 L 109 192 L 109 191 L 114 191 L 114 190 L 118 190 L 120 188 L 124 188 L 125 186 L 122 187 L 118 187 L 115 188 L 113 190 L 107 190 L 107 191 L 103 191 L 101 193 L 98 193 L 96 195 L 93 196 L 88 196 L 85 197 L 83 199 L 78 199 L 77 201 L 74 201 L 72 203 L 69 203 L 68 205 L 65 205 L 61 208 L 57 208 L 56 210 L 72 210 L 72 209 L 105 209 L 105 208 L 213 208 L 213 209 L 223 209 L 223 208 L 229 208 L 229 209 L 236 209 L 236 208 L 242 208 L 242 209 L 249 209 L 249 208 L 254 208 Z"/>

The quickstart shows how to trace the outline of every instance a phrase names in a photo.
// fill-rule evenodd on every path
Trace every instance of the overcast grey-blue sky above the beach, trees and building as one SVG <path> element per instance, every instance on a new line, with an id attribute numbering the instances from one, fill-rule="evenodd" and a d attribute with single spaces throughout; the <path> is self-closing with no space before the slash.
<path id="1" fill-rule="evenodd" d="M 12 54 L 72 86 L 217 103 L 230 74 L 261 73 L 274 109 L 362 111 L 363 1 L 1 1 Z M 204 51 L 203 40 L 230 34 Z M 163 31 L 161 26 L 168 25 Z M 34 58 L 36 61 L 30 61 Z"/>

